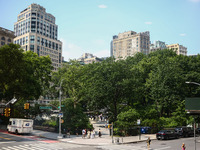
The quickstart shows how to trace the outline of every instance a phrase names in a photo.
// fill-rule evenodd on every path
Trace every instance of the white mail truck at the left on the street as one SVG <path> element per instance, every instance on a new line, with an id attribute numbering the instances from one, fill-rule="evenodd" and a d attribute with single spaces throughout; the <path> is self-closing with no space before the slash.
<path id="1" fill-rule="evenodd" d="M 33 131 L 32 119 L 10 118 L 7 126 L 8 132 L 13 133 L 31 133 Z"/>

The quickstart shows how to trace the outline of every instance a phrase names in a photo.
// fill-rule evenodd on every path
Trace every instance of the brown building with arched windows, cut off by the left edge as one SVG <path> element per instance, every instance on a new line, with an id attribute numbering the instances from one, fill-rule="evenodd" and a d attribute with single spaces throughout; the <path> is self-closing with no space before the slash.
<path id="1" fill-rule="evenodd" d="M 13 31 L 0 27 L 0 47 L 5 44 L 13 43 L 15 34 Z"/>

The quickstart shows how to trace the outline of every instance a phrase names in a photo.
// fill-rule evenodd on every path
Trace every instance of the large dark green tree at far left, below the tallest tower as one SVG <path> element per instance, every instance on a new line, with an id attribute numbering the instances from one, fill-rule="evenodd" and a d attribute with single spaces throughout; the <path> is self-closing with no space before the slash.
<path id="1" fill-rule="evenodd" d="M 19 45 L 0 48 L 0 99 L 38 99 L 51 78 L 50 57 L 25 52 Z"/>

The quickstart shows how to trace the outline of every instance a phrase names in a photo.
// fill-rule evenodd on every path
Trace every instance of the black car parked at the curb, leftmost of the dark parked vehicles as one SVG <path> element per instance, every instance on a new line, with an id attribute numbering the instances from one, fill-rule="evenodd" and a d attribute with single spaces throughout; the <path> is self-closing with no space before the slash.
<path id="1" fill-rule="evenodd" d="M 174 130 L 161 130 L 156 133 L 156 138 L 158 140 L 177 139 L 179 138 L 179 134 Z"/>

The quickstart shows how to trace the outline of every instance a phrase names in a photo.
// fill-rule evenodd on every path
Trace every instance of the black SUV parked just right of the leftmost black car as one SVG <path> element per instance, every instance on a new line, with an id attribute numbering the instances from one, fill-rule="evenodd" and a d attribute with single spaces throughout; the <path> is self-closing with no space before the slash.
<path id="1" fill-rule="evenodd" d="M 194 132 L 191 127 L 176 127 L 175 131 L 182 137 L 189 137 L 194 135 Z"/>

